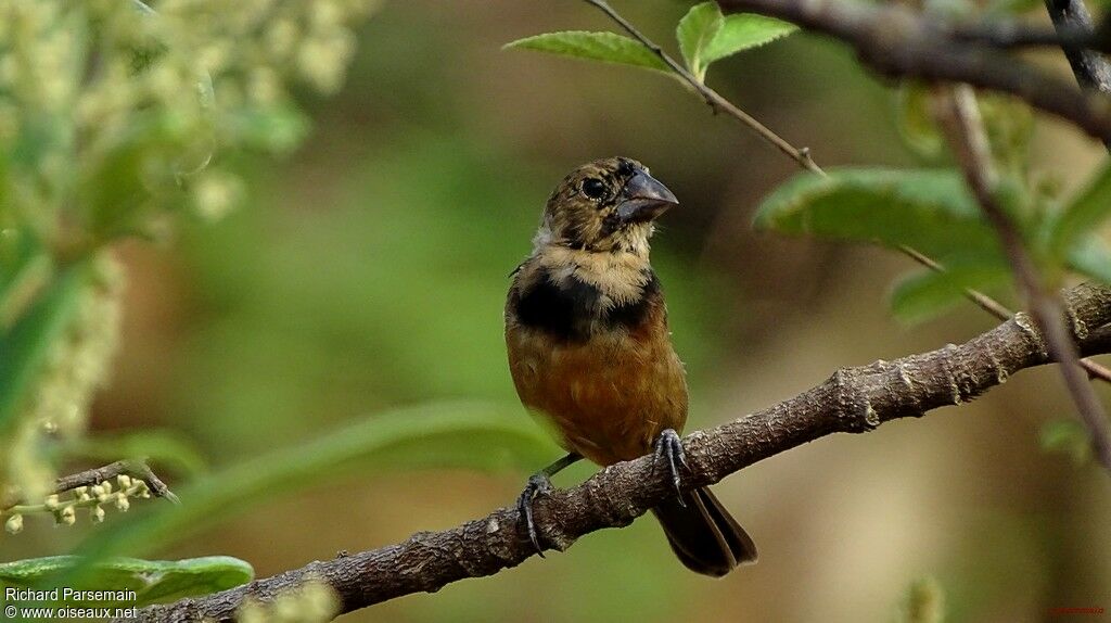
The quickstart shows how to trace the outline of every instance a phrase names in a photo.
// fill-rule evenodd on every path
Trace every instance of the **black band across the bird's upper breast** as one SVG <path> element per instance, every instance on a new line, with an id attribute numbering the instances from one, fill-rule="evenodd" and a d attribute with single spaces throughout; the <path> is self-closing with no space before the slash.
<path id="1" fill-rule="evenodd" d="M 594 285 L 573 275 L 556 284 L 549 271 L 541 269 L 533 284 L 519 292 L 510 305 L 521 324 L 563 341 L 582 342 L 593 333 L 631 330 L 645 321 L 660 295 L 660 280 L 651 269 L 645 272 L 648 283 L 640 297 L 603 310 L 601 292 Z"/>

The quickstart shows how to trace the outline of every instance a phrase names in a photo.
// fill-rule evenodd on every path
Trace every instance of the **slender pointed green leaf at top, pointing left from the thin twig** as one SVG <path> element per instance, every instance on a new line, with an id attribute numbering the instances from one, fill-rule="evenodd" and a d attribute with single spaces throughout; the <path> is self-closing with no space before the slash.
<path id="1" fill-rule="evenodd" d="M 502 49 L 521 48 L 577 59 L 628 64 L 671 73 L 659 57 L 638 41 L 613 32 L 569 30 L 548 32 L 506 43 Z"/>

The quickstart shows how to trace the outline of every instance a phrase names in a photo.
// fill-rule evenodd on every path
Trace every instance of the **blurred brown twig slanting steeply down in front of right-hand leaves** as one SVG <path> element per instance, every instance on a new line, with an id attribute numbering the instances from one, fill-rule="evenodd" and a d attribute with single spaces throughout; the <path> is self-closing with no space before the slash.
<path id="1" fill-rule="evenodd" d="M 1092 435 L 1092 445 L 1100 463 L 1111 471 L 1111 426 L 1108 425 L 1103 404 L 1084 378 L 1080 353 L 1072 341 L 1068 318 L 1060 301 L 1042 285 L 1038 269 L 1027 252 L 1022 233 L 999 202 L 995 189 L 999 183 L 991 148 L 980 118 L 975 92 L 967 84 L 954 86 L 948 94 L 948 114 L 942 120 L 948 130 L 972 194 L 975 195 L 984 217 L 999 234 L 1000 243 L 1011 264 L 1019 288 L 1022 290 L 1030 315 L 1045 340 L 1053 361 L 1060 364 L 1061 374 L 1080 418 Z"/>

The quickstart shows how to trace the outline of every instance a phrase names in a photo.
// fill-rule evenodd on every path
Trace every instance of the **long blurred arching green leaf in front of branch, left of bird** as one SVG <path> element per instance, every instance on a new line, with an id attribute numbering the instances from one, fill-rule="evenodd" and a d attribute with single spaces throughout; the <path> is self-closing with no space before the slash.
<path id="1" fill-rule="evenodd" d="M 98 532 L 81 553 L 101 560 L 166 549 L 257 504 L 349 474 L 416 468 L 528 472 L 556 454 L 519 405 L 452 402 L 399 409 L 194 481 L 177 492 L 181 505 L 130 514 Z"/>

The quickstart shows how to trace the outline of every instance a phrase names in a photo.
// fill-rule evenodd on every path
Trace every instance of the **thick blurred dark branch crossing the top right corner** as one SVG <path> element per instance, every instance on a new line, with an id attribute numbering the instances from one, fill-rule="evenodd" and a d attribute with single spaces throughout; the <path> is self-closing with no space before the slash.
<path id="1" fill-rule="evenodd" d="M 1111 141 L 1107 97 L 1081 92 L 1018 57 L 957 37 L 951 27 L 905 8 L 830 0 L 721 0 L 719 4 L 727 11 L 771 16 L 835 37 L 882 74 L 1011 93 L 1093 138 Z"/>

